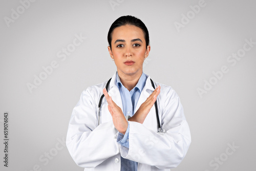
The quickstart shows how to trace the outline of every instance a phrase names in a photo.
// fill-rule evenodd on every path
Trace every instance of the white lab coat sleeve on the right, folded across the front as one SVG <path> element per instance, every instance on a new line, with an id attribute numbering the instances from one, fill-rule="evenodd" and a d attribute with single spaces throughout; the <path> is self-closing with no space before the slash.
<path id="1" fill-rule="evenodd" d="M 163 89 L 162 86 L 158 104 L 165 133 L 157 133 L 138 122 L 129 121 L 129 148 L 120 147 L 123 158 L 160 169 L 177 167 L 191 142 L 179 96 L 170 87 Z"/>

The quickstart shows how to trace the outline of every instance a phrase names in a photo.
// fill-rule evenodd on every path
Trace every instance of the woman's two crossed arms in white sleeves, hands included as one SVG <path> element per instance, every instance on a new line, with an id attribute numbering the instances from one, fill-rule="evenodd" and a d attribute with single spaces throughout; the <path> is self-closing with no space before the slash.
<path id="1" fill-rule="evenodd" d="M 171 88 L 163 88 L 161 86 L 163 95 L 159 94 L 158 87 L 129 119 L 129 148 L 118 146 L 114 138 L 117 135 L 116 131 L 124 135 L 127 130 L 127 121 L 119 106 L 103 90 L 113 122 L 97 126 L 96 108 L 91 108 L 91 104 L 97 105 L 93 98 L 94 92 L 91 88 L 83 92 L 72 112 L 67 134 L 67 147 L 77 165 L 93 168 L 120 153 L 125 159 L 146 164 L 145 168 L 147 165 L 160 169 L 177 167 L 187 153 L 191 142 L 190 132 L 178 95 Z M 144 122 L 159 95 L 162 96 L 161 116 L 164 120 L 162 126 L 166 130 L 165 134 L 139 124 Z M 107 153 L 102 153 L 103 151 Z"/>

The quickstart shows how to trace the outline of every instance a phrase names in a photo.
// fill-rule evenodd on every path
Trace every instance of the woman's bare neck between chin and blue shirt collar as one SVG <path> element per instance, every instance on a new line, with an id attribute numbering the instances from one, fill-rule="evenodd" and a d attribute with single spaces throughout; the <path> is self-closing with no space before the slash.
<path id="1" fill-rule="evenodd" d="M 129 91 L 131 91 L 136 86 L 141 75 L 142 71 L 133 75 L 126 75 L 118 72 L 120 81 L 122 82 L 123 86 Z"/>

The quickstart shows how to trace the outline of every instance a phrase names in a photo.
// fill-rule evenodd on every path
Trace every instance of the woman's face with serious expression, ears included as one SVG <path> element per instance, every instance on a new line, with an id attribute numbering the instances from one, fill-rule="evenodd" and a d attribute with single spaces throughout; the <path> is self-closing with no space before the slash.
<path id="1" fill-rule="evenodd" d="M 112 32 L 112 50 L 109 53 L 114 59 L 119 76 L 135 76 L 142 74 L 144 59 L 150 53 L 146 49 L 143 31 L 136 26 L 125 25 L 117 27 Z"/>

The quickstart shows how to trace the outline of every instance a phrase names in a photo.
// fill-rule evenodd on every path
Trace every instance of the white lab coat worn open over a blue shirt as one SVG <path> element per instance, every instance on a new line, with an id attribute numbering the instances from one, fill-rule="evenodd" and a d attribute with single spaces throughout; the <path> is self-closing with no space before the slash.
<path id="1" fill-rule="evenodd" d="M 115 85 L 116 73 L 111 79 L 109 95 L 122 109 L 122 100 Z M 157 132 L 155 106 L 143 124 L 131 122 L 129 148 L 117 143 L 118 131 L 105 98 L 101 106 L 101 124 L 98 125 L 98 103 L 106 81 L 82 92 L 69 122 L 67 134 L 68 150 L 78 166 L 84 170 L 120 170 L 123 158 L 138 162 L 138 170 L 169 170 L 185 157 L 191 142 L 190 131 L 184 117 L 179 96 L 169 86 L 161 86 L 157 97 L 159 119 L 165 133 Z M 139 106 L 154 91 L 150 76 L 139 97 Z"/>

